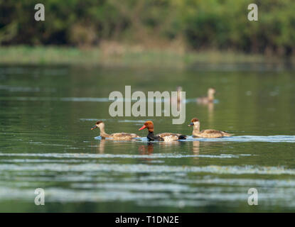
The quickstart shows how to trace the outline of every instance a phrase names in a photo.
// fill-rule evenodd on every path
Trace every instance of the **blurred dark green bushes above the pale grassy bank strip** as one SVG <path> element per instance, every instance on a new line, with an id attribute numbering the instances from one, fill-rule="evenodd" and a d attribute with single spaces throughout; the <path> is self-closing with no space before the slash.
<path id="1" fill-rule="evenodd" d="M 34 6 L 45 5 L 45 21 Z M 247 20 L 256 3 L 259 21 Z M 195 50 L 294 53 L 294 0 L 5 0 L 0 1 L 2 45 L 97 45 L 101 40 L 171 43 Z"/>

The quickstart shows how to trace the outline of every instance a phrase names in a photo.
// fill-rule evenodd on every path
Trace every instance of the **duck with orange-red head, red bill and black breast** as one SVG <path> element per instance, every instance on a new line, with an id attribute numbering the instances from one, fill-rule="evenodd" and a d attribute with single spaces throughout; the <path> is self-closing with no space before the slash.
<path id="1" fill-rule="evenodd" d="M 146 121 L 144 123 L 144 126 L 139 128 L 140 130 L 143 130 L 144 128 L 147 128 L 149 131 L 149 134 L 146 136 L 149 141 L 175 141 L 175 140 L 185 140 L 186 135 L 181 135 L 180 133 L 159 133 L 154 135 L 154 123 L 152 121 Z"/>

